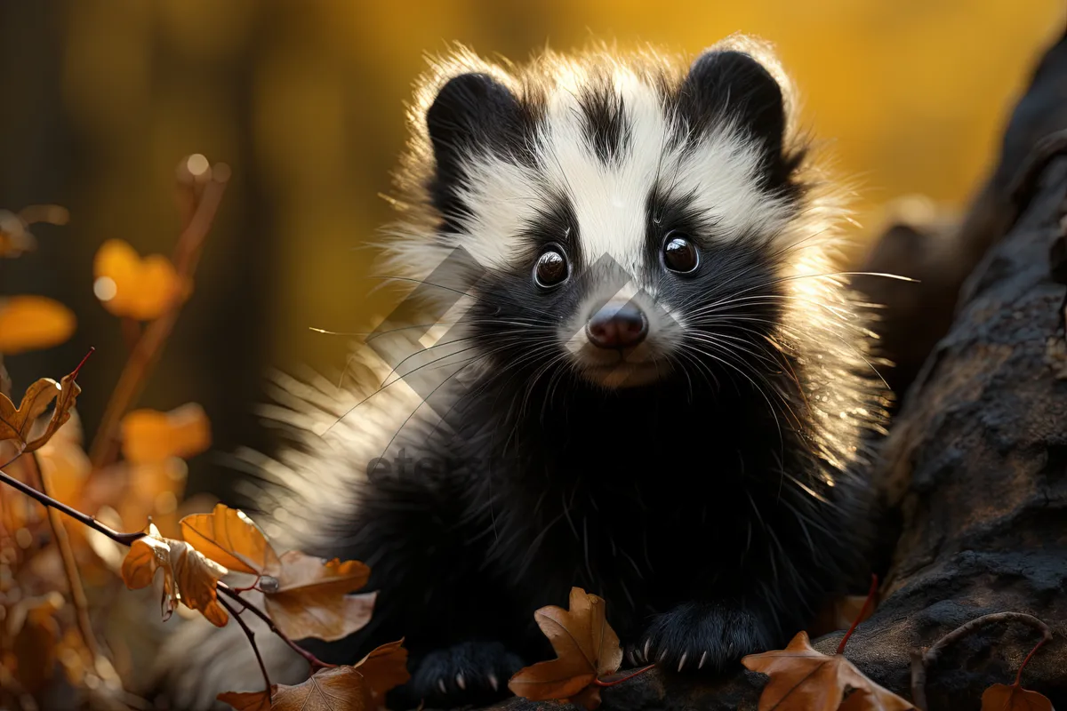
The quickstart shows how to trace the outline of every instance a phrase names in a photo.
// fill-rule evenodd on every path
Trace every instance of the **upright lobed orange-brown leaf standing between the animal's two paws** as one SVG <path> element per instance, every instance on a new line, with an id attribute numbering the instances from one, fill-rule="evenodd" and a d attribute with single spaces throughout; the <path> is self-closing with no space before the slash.
<path id="1" fill-rule="evenodd" d="M 607 624 L 604 600 L 573 587 L 570 610 L 548 605 L 534 617 L 557 658 L 520 670 L 511 677 L 508 689 L 535 701 L 575 699 L 580 694 L 586 708 L 595 709 L 600 689 L 586 689 L 598 677 L 615 674 L 622 664 L 622 647 Z"/>

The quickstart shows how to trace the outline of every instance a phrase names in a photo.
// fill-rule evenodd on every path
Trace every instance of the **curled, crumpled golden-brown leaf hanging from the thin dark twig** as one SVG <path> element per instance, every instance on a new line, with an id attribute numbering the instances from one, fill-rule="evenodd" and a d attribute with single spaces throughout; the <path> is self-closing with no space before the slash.
<path id="1" fill-rule="evenodd" d="M 197 610 L 216 627 L 224 627 L 228 615 L 219 604 L 216 583 L 227 570 L 206 559 L 184 540 L 163 538 L 155 524 L 130 546 L 123 561 L 123 581 L 130 589 L 147 587 L 163 569 L 163 619 L 174 612 L 175 601 Z"/>

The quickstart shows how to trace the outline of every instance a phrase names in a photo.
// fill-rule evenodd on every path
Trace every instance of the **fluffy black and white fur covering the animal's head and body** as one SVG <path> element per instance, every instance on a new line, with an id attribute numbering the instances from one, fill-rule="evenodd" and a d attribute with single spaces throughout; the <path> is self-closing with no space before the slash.
<path id="1" fill-rule="evenodd" d="M 278 376 L 267 414 L 297 443 L 245 455 L 281 547 L 371 567 L 372 621 L 317 652 L 404 637 L 397 706 L 485 702 L 552 657 L 534 611 L 580 586 L 631 663 L 714 674 L 862 580 L 861 442 L 886 393 L 833 275 L 840 192 L 795 114 L 769 48 L 740 36 L 695 61 L 432 64 L 384 245 L 417 287 L 356 346 L 356 385 Z M 672 236 L 691 273 L 666 269 Z M 546 248 L 569 269 L 551 289 L 534 278 Z M 643 312 L 635 348 L 590 342 L 612 304 Z M 233 652 L 195 681 L 161 657 L 179 706 L 260 683 L 240 631 L 213 634 Z M 275 681 L 298 680 L 258 639 Z"/>

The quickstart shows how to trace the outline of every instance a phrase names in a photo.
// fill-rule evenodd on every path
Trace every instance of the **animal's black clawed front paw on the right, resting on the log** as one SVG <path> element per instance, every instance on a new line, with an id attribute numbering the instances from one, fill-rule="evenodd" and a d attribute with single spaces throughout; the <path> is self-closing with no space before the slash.
<path id="1" fill-rule="evenodd" d="M 656 617 L 627 650 L 627 661 L 679 673 L 721 673 L 745 655 L 771 648 L 774 634 L 762 614 L 721 603 L 679 605 Z"/>

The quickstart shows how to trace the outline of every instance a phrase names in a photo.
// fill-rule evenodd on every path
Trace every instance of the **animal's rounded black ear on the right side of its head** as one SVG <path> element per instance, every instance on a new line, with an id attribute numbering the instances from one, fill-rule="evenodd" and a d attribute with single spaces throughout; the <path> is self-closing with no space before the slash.
<path id="1" fill-rule="evenodd" d="M 707 50 L 692 63 L 679 93 L 680 109 L 690 126 L 704 128 L 736 120 L 740 128 L 780 156 L 785 133 L 782 87 L 752 55 L 736 50 Z"/>

